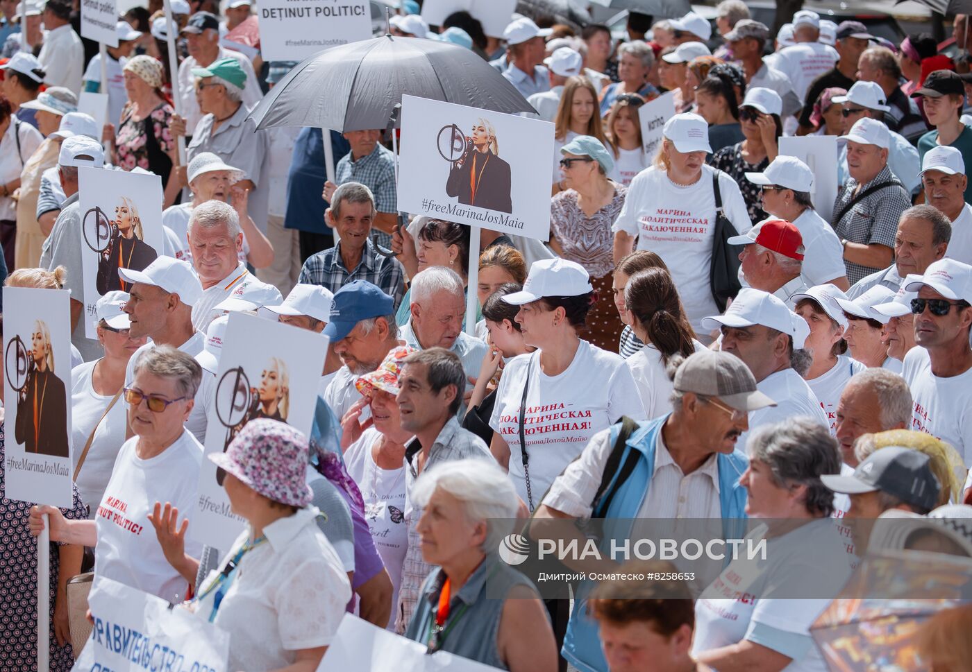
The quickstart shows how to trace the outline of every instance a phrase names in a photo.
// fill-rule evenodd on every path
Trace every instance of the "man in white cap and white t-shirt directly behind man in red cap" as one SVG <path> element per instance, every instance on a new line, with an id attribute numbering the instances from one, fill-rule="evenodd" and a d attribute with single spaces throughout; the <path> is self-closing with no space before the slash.
<path id="1" fill-rule="evenodd" d="M 796 156 L 778 155 L 762 173 L 746 173 L 762 187 L 762 207 L 773 218 L 791 222 L 800 231 L 804 258 L 801 274 L 807 286 L 832 284 L 847 290 L 847 270 L 841 241 L 833 227 L 816 214 L 811 191 L 814 172 Z"/>

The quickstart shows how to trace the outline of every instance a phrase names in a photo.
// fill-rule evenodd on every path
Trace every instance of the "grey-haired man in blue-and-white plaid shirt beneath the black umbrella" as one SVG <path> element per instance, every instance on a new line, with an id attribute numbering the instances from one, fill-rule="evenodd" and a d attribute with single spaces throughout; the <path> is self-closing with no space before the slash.
<path id="1" fill-rule="evenodd" d="M 376 214 L 374 195 L 365 185 L 348 182 L 334 189 L 325 218 L 340 241 L 330 250 L 308 257 L 297 282 L 325 286 L 336 294 L 348 283 L 366 280 L 391 296 L 398 310 L 405 294 L 405 270 L 398 259 L 378 252 L 371 242 Z"/>

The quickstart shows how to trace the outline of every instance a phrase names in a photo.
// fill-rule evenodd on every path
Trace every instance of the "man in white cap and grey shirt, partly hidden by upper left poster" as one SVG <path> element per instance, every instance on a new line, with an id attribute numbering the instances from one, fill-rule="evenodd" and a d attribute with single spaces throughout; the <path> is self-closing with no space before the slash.
<path id="1" fill-rule="evenodd" d="M 81 254 L 85 242 L 81 232 L 81 212 L 78 204 L 78 168 L 101 168 L 104 151 L 101 144 L 85 136 L 68 138 L 61 144 L 57 156 L 57 174 L 67 200 L 54 221 L 51 235 L 41 248 L 41 267 L 50 271 L 63 266 L 67 269 L 64 288 L 71 292 L 71 343 L 85 359 L 102 356 L 97 341 L 85 335 L 85 283 Z"/>

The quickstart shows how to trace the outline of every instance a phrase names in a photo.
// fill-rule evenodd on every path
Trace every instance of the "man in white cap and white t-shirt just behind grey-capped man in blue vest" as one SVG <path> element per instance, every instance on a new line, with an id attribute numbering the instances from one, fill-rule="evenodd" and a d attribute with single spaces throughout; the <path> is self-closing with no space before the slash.
<path id="1" fill-rule="evenodd" d="M 745 287 L 725 313 L 703 319 L 702 326 L 719 329 L 720 350 L 746 362 L 756 388 L 777 402 L 749 416 L 750 429 L 794 416 L 809 416 L 830 427 L 814 390 L 802 378 L 813 361 L 813 354 L 804 349 L 810 327 L 780 299 Z M 746 446 L 746 433 L 738 446 Z"/>

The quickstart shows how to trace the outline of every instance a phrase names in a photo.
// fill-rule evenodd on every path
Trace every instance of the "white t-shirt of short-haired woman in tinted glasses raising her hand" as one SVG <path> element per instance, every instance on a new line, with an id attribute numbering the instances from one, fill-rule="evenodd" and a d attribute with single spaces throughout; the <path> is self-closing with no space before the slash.
<path id="1" fill-rule="evenodd" d="M 165 559 L 149 521 L 156 502 L 171 502 L 192 524 L 202 446 L 183 430 L 171 446 L 149 459 L 135 454 L 138 437 L 119 451 L 95 521 L 98 544 L 94 573 L 170 602 L 186 597 L 189 585 Z M 199 557 L 202 545 L 186 537 L 186 553 Z"/>

